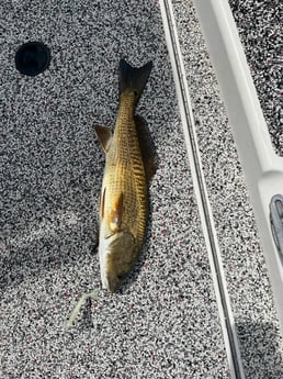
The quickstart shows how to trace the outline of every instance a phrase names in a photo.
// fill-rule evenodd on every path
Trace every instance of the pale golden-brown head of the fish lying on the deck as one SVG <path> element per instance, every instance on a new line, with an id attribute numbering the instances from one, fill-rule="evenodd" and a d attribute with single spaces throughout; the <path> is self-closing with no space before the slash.
<path id="1" fill-rule="evenodd" d="M 104 252 L 100 255 L 102 287 L 115 292 L 132 271 L 138 248 L 129 232 L 121 231 L 106 239 L 109 243 L 104 244 Z"/>

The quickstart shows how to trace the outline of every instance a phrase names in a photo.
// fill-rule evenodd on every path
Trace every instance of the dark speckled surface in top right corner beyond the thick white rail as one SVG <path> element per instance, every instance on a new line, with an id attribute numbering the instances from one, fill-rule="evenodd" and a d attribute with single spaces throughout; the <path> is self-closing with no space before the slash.
<path id="1" fill-rule="evenodd" d="M 275 152 L 283 156 L 283 1 L 229 0 Z"/>

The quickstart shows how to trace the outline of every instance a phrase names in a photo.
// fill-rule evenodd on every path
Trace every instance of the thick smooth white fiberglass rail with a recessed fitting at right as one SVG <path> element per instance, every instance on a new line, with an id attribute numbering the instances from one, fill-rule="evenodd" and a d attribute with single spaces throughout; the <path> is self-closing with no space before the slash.
<path id="1" fill-rule="evenodd" d="M 269 211 L 272 197 L 283 193 L 283 158 L 273 149 L 228 1 L 193 1 L 246 176 L 283 335 L 283 260 Z"/>

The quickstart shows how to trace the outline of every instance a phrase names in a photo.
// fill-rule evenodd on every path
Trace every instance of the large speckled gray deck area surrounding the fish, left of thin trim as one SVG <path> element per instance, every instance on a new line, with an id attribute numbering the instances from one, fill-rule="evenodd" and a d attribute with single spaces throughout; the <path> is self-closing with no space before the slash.
<path id="1" fill-rule="evenodd" d="M 0 20 L 1 379 L 229 378 L 158 3 L 7 1 Z M 52 64 L 29 78 L 13 58 L 33 40 Z M 151 222 L 123 291 L 101 292 L 66 332 L 100 286 L 93 123 L 114 123 L 122 56 L 154 59 L 139 107 L 160 160 Z"/>

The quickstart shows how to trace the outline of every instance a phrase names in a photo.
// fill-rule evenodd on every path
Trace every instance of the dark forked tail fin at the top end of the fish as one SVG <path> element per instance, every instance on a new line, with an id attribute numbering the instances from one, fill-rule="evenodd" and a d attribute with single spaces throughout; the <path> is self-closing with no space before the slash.
<path id="1" fill-rule="evenodd" d="M 152 68 L 152 62 L 148 62 L 145 66 L 136 68 L 132 67 L 125 59 L 120 60 L 120 93 L 125 90 L 132 90 L 138 101 L 149 74 Z"/>

